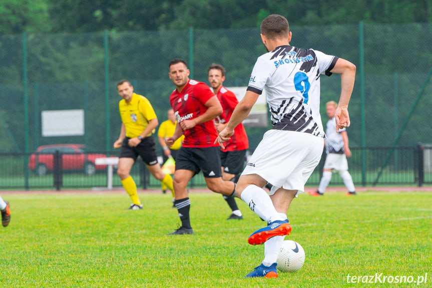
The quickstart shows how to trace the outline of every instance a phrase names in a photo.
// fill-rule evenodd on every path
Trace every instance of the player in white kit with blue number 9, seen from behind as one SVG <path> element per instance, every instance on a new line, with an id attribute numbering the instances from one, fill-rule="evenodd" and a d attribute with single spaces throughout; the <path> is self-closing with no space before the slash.
<path id="1" fill-rule="evenodd" d="M 261 23 L 261 40 L 268 53 L 252 70 L 245 97 L 235 108 L 216 142 L 221 146 L 248 115 L 263 90 L 273 128 L 267 131 L 252 154 L 235 192 L 268 226 L 253 232 L 248 242 L 264 245 L 264 260 L 246 277 L 277 277 L 276 258 L 285 235 L 291 231 L 286 213 L 297 193 L 318 165 L 324 147 L 319 115 L 320 78 L 341 75 L 341 93 L 335 112 L 335 129 L 350 125 L 348 103 L 355 66 L 341 58 L 289 45 L 287 20 L 270 15 Z M 216 143 L 215 142 L 215 143 Z M 262 189 L 273 185 L 270 195 Z"/>

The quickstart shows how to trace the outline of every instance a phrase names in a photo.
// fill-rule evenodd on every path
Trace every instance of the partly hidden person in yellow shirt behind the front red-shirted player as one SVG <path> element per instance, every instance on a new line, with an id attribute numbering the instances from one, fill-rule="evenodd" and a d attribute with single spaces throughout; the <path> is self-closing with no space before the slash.
<path id="1" fill-rule="evenodd" d="M 168 120 L 161 123 L 158 130 L 158 140 L 159 144 L 161 144 L 162 149 L 164 150 L 164 154 L 162 155 L 164 163 L 168 160 L 168 157 L 173 157 L 176 160 L 177 154 L 179 153 L 180 147 L 182 147 L 183 139 L 185 135 L 182 135 L 179 139 L 174 142 L 173 146 L 168 147 L 165 143 L 165 138 L 172 137 L 174 132 L 176 131 L 177 118 L 174 115 L 174 110 L 169 109 L 167 112 Z M 162 192 L 166 192 L 167 187 L 162 183 Z M 173 193 L 174 197 L 174 193 Z"/>

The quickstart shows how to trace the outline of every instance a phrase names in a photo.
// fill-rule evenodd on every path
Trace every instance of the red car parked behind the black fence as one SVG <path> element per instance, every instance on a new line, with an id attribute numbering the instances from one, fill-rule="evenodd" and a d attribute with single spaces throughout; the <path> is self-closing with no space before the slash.
<path id="1" fill-rule="evenodd" d="M 62 154 L 63 171 L 83 171 L 86 175 L 93 175 L 97 170 L 105 170 L 106 165 L 95 165 L 96 158 L 105 158 L 105 154 L 86 153 L 82 144 L 55 144 L 38 147 L 37 153 L 30 156 L 29 169 L 36 175 L 42 176 L 54 167 L 54 154 Z"/>

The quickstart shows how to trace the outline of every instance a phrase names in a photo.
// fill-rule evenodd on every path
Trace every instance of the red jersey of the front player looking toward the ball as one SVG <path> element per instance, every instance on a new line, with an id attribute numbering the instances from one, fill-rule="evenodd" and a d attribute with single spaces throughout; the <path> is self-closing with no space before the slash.
<path id="1" fill-rule="evenodd" d="M 205 113 L 208 108 L 204 104 L 213 96 L 215 96 L 214 93 L 205 83 L 191 79 L 181 92 L 175 89 L 171 93 L 170 103 L 177 122 L 194 119 Z M 198 124 L 194 128 L 183 131 L 183 134 L 185 135 L 183 147 L 218 146 L 218 144 L 213 144 L 218 136 L 213 120 Z"/>

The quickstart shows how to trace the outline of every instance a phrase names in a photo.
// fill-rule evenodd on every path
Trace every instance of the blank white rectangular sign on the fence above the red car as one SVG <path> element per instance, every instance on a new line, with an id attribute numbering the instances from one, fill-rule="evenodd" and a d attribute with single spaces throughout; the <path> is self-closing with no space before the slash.
<path id="1" fill-rule="evenodd" d="M 42 136 L 82 136 L 84 135 L 84 110 L 42 111 Z"/>

